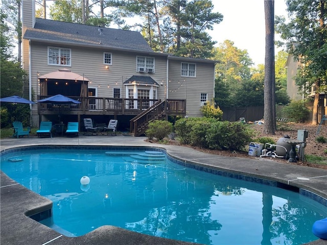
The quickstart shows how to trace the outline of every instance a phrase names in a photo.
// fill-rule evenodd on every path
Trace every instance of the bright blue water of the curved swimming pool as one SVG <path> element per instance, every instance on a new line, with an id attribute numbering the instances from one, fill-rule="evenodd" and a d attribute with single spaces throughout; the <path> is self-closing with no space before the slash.
<path id="1" fill-rule="evenodd" d="M 302 244 L 327 217 L 296 192 L 185 168 L 160 152 L 18 151 L 1 157 L 1 170 L 52 200 L 43 224 L 67 236 L 113 225 L 202 244 Z"/>

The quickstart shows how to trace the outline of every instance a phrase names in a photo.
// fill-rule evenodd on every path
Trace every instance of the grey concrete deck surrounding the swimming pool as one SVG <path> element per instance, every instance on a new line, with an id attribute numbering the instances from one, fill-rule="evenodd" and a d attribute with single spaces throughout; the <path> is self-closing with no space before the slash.
<path id="1" fill-rule="evenodd" d="M 156 146 L 186 163 L 206 166 L 236 175 L 251 176 L 291 185 L 307 193 L 313 192 L 327 199 L 327 170 L 297 166 L 269 159 L 245 159 L 218 156 L 176 145 L 154 144 L 145 137 L 84 136 L 54 138 L 8 138 L 0 142 L 1 151 L 29 145 L 99 145 L 99 146 Z M 298 179 L 306 178 L 306 180 Z M 80 237 L 66 237 L 29 218 L 29 213 L 38 213 L 52 206 L 52 202 L 17 184 L 1 172 L 1 244 L 195 244 L 148 236 L 113 226 L 103 226 Z M 327 208 L 327 207 L 326 207 Z M 311 232 L 311 231 L 308 231 Z M 327 240 L 318 239 L 310 245 L 327 245 Z"/>

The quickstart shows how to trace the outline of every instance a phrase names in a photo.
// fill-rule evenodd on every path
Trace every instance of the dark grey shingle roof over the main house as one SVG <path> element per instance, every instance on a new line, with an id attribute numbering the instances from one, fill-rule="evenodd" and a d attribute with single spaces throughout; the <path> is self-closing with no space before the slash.
<path id="1" fill-rule="evenodd" d="M 87 26 L 50 19 L 35 19 L 34 28 L 26 30 L 24 38 L 36 41 L 66 43 L 81 46 L 98 46 L 116 50 L 132 50 L 153 53 L 141 33 L 113 28 Z"/>

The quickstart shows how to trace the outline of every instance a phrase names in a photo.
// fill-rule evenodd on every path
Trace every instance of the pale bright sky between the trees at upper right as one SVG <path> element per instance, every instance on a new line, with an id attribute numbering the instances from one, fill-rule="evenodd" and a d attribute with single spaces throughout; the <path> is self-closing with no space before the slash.
<path id="1" fill-rule="evenodd" d="M 228 39 L 240 50 L 247 50 L 255 63 L 265 63 L 265 12 L 264 0 L 212 0 L 214 12 L 221 13 L 223 21 L 208 31 L 218 46 Z M 275 0 L 275 15 L 287 17 L 285 0 Z M 279 35 L 275 34 L 275 40 Z M 275 48 L 275 55 L 281 48 Z"/>

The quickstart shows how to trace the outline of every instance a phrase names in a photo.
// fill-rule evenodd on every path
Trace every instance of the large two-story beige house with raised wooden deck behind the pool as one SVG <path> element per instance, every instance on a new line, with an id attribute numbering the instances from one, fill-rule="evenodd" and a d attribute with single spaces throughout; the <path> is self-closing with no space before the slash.
<path id="1" fill-rule="evenodd" d="M 60 113 L 64 123 L 118 119 L 119 128 L 141 134 L 149 119 L 202 116 L 200 107 L 214 97 L 217 61 L 153 52 L 138 32 L 35 18 L 34 13 L 35 2 L 22 1 L 25 90 L 34 101 L 62 94 L 81 104 L 33 105 L 33 126 L 41 120 L 56 123 Z"/>

